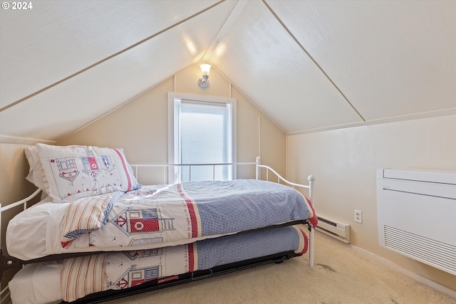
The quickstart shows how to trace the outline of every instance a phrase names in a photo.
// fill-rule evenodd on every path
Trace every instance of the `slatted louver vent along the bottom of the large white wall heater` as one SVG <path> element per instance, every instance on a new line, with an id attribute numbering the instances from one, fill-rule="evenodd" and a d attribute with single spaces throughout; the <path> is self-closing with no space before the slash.
<path id="1" fill-rule="evenodd" d="M 410 258 L 456 273 L 456 246 L 384 226 L 385 247 Z"/>

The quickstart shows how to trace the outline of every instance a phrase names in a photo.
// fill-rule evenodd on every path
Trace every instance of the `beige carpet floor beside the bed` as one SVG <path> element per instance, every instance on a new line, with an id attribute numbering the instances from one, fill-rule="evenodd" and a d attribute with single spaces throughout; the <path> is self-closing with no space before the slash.
<path id="1" fill-rule="evenodd" d="M 314 268 L 305 255 L 105 303 L 456 304 L 340 241 L 317 232 L 315 242 Z"/>

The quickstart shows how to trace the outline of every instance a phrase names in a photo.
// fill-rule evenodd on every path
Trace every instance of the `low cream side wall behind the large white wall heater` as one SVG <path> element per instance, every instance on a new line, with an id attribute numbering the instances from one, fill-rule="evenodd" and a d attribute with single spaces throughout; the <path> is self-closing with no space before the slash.
<path id="1" fill-rule="evenodd" d="M 314 174 L 317 214 L 351 224 L 353 245 L 456 290 L 455 276 L 378 246 L 375 187 L 378 168 L 456 171 L 456 115 L 292 135 L 287 154 L 288 177 Z M 363 224 L 353 221 L 354 209 Z"/>

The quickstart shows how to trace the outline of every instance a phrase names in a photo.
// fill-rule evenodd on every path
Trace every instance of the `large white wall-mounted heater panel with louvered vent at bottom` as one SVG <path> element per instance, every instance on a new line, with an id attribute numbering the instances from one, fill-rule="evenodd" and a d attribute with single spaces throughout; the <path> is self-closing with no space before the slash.
<path id="1" fill-rule="evenodd" d="M 377 170 L 380 246 L 456 275 L 456 172 Z"/>

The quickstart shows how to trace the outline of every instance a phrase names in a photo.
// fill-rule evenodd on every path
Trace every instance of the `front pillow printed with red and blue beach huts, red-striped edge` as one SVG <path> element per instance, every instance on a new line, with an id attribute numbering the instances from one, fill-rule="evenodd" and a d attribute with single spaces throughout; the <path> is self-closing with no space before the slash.
<path id="1" fill-rule="evenodd" d="M 122 149 L 36 144 L 43 184 L 54 201 L 140 188 Z"/>

